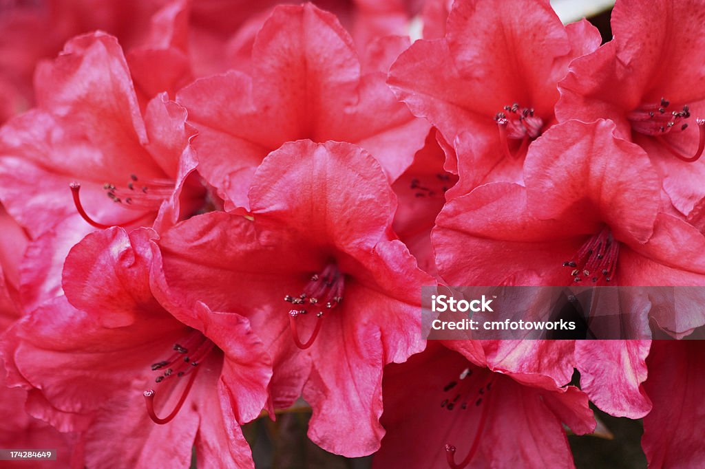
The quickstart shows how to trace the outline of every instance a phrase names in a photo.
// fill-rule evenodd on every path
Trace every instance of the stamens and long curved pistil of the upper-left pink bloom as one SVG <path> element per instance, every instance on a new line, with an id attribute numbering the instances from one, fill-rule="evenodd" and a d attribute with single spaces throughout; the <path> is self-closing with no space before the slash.
<path id="1" fill-rule="evenodd" d="M 73 204 L 76 211 L 81 215 L 89 225 L 104 230 L 111 226 L 126 227 L 137 221 L 145 218 L 145 212 L 151 213 L 159 211 L 161 203 L 173 194 L 176 182 L 167 179 L 149 179 L 138 180 L 136 175 L 130 175 L 130 182 L 125 187 L 117 187 L 116 185 L 106 182 L 103 185 L 109 199 L 116 204 L 121 204 L 125 208 L 132 208 L 135 211 L 142 212 L 137 218 L 129 220 L 118 225 L 105 225 L 93 220 L 88 215 L 81 204 L 80 189 L 81 185 L 78 182 L 71 182 L 71 192 L 73 194 Z"/>

